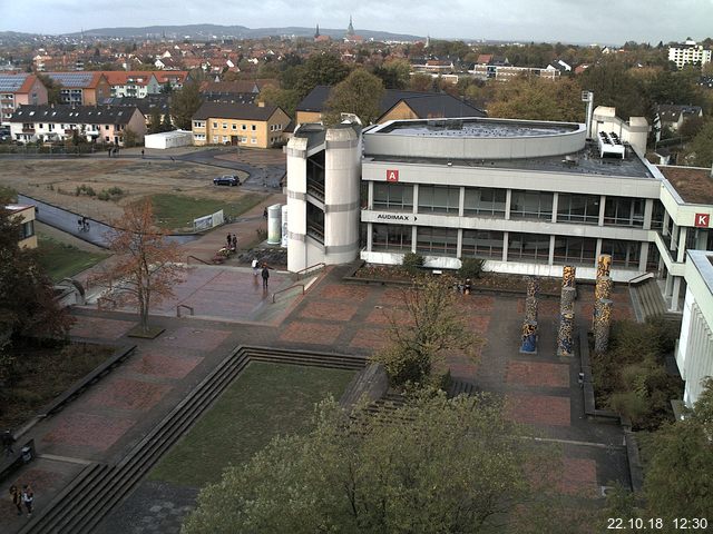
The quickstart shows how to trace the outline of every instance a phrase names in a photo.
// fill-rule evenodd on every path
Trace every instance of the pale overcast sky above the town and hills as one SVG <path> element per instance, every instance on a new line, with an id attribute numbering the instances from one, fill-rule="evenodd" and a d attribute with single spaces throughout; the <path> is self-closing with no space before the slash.
<path id="1" fill-rule="evenodd" d="M 702 40 L 713 34 L 713 0 L 0 0 L 0 31 L 217 23 L 248 28 L 354 28 L 436 38 L 624 43 Z"/>

